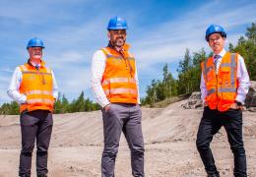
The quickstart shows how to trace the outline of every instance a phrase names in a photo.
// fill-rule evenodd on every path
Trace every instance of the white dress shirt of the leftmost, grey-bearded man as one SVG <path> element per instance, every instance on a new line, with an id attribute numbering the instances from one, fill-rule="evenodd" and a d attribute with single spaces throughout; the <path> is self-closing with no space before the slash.
<path id="1" fill-rule="evenodd" d="M 34 63 L 32 63 L 33 66 L 35 66 Z M 40 67 L 40 65 L 38 65 Z M 55 99 L 58 98 L 58 85 L 56 83 L 55 77 L 53 72 L 51 71 L 52 74 L 52 81 L 53 81 L 53 97 Z M 7 90 L 7 94 L 15 101 L 17 101 L 19 104 L 26 103 L 27 101 L 27 96 L 25 94 L 20 93 L 20 86 L 23 80 L 23 74 L 20 69 L 20 67 L 16 67 L 13 77 L 9 86 L 9 89 Z"/>

